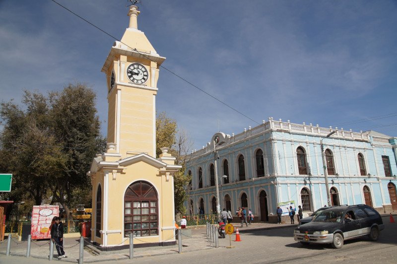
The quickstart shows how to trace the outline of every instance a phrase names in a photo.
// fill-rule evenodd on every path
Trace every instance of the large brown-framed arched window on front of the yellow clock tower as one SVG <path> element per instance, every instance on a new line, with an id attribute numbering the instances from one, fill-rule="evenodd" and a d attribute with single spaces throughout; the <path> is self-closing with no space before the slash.
<path id="1" fill-rule="evenodd" d="M 144 181 L 133 183 L 124 195 L 124 235 L 158 235 L 158 198 L 154 187 Z"/>

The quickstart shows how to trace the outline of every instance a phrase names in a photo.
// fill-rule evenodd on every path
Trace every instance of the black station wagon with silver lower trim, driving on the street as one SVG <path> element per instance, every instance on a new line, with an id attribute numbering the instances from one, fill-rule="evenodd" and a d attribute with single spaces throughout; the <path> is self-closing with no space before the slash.
<path id="1" fill-rule="evenodd" d="M 294 239 L 309 243 L 331 244 L 340 249 L 343 241 L 361 236 L 369 236 L 372 241 L 379 239 L 385 228 L 381 215 L 372 207 L 359 205 L 333 206 L 316 214 L 310 223 L 294 230 Z"/>

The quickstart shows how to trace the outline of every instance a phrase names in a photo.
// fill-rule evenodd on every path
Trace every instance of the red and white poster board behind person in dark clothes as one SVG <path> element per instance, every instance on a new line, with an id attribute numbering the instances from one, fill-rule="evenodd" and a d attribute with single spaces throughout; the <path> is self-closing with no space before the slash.
<path id="1" fill-rule="evenodd" d="M 50 225 L 59 216 L 59 205 L 34 205 L 32 211 L 32 239 L 50 239 Z"/>

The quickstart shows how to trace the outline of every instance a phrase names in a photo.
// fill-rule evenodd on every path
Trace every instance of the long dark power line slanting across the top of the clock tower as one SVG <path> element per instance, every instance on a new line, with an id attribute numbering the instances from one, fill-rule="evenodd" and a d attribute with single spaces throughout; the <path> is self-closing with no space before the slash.
<path id="1" fill-rule="evenodd" d="M 149 57 L 147 57 L 144 53 L 139 52 L 136 48 L 132 48 L 129 45 L 127 45 L 126 43 L 123 43 L 120 39 L 112 36 L 111 34 L 109 34 L 108 32 L 106 32 L 105 30 L 101 29 L 100 27 L 94 25 L 93 23 L 89 22 L 88 20 L 86 20 L 85 18 L 79 16 L 78 14 L 74 13 L 73 11 L 71 11 L 70 9 L 68 9 L 66 6 L 60 4 L 59 2 L 52 0 L 53 2 L 55 2 L 56 4 L 58 4 L 59 6 L 63 7 L 64 9 L 66 9 L 67 11 L 69 11 L 70 13 L 74 14 L 75 16 L 77 16 L 78 18 L 84 20 L 85 22 L 87 22 L 88 24 L 90 24 L 91 26 L 95 27 L 96 29 L 102 31 L 103 33 L 105 33 L 106 35 L 110 36 L 111 38 L 119 41 L 120 43 L 126 45 L 127 47 L 129 47 L 130 49 L 132 49 L 133 51 L 136 51 L 137 53 L 139 53 L 140 55 L 142 55 L 143 57 L 145 57 L 146 59 L 150 60 Z M 150 60 L 151 61 L 151 60 Z M 216 101 L 218 101 L 219 103 L 225 105 L 226 107 L 232 109 L 233 111 L 237 112 L 238 114 L 244 116 L 245 118 L 255 122 L 256 124 L 260 125 L 260 123 L 258 123 L 257 121 L 253 120 L 252 118 L 248 117 L 247 115 L 243 114 L 242 112 L 238 111 L 237 109 L 233 108 L 232 106 L 228 105 L 227 103 L 221 101 L 220 99 L 216 98 L 215 96 L 209 94 L 208 92 L 204 91 L 203 89 L 199 88 L 197 85 L 193 84 L 192 82 L 188 81 L 187 79 L 183 78 L 182 76 L 178 75 L 177 73 L 175 73 L 174 71 L 160 65 L 161 68 L 167 70 L 168 72 L 170 72 L 171 74 L 175 75 L 176 77 L 180 78 L 181 80 L 187 82 L 188 84 L 192 85 L 193 87 L 199 89 L 201 92 L 205 93 L 206 95 L 210 96 L 211 98 L 215 99 Z"/>

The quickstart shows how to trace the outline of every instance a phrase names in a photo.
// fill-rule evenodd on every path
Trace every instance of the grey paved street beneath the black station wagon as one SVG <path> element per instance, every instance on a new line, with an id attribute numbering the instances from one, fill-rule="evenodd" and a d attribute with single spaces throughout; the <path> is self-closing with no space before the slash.
<path id="1" fill-rule="evenodd" d="M 342 249 L 336 250 L 331 245 L 302 246 L 293 239 L 294 227 L 253 231 L 241 234 L 241 242 L 232 241 L 234 249 L 226 249 L 226 239 L 219 239 L 219 249 L 210 248 L 183 254 L 168 254 L 153 257 L 136 258 L 132 261 L 107 261 L 100 263 L 292 263 L 323 262 L 331 263 L 397 263 L 397 223 L 389 223 L 389 217 L 383 217 L 385 229 L 377 242 L 367 238 L 345 241 Z M 205 230 L 200 230 L 205 232 Z M 232 240 L 235 235 L 232 235 Z M 209 245 L 209 243 L 208 243 Z M 61 260 L 61 262 L 66 260 Z M 68 260 L 71 261 L 71 260 Z M 53 262 L 58 262 L 54 260 Z M 46 260 L 24 257 L 5 257 L 0 255 L 0 263 L 6 264 L 43 264 Z"/>

